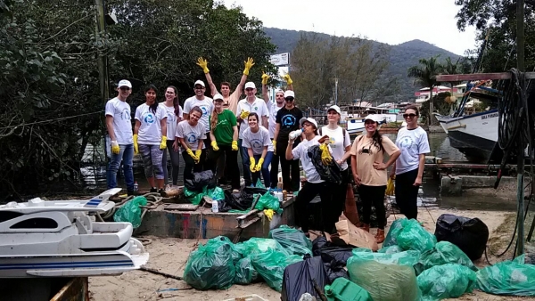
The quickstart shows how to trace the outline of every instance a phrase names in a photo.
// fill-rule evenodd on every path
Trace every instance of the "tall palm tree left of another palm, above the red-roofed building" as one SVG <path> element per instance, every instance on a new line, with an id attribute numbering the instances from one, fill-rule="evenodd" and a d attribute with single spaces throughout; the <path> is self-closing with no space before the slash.
<path id="1" fill-rule="evenodd" d="M 438 85 L 437 75 L 439 75 L 444 67 L 437 61 L 440 55 L 432 56 L 429 59 L 420 59 L 418 65 L 412 66 L 407 70 L 408 77 L 415 78 L 415 85 L 423 85 L 429 87 L 429 118 L 427 118 L 427 125 L 432 125 L 432 88 Z"/>

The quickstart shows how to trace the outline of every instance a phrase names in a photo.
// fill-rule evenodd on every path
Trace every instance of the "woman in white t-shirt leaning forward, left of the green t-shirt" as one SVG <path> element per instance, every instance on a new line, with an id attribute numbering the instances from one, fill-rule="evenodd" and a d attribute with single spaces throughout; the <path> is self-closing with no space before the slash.
<path id="1" fill-rule="evenodd" d="M 176 141 L 182 146 L 182 158 L 184 158 L 184 178 L 191 179 L 193 172 L 202 172 L 204 161 L 203 141 L 206 139 L 206 130 L 204 125 L 199 122 L 202 118 L 202 110 L 194 106 L 189 113 L 189 119 L 180 121 L 177 125 Z M 193 153 L 193 151 L 195 151 Z"/>

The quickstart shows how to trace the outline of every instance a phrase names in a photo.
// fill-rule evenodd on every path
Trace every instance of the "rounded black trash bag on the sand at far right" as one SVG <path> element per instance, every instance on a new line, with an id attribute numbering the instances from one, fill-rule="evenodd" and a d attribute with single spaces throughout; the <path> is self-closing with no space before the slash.
<path id="1" fill-rule="evenodd" d="M 437 220 L 437 241 L 449 241 L 471 260 L 481 258 L 489 240 L 489 228 L 479 218 L 444 214 Z"/>

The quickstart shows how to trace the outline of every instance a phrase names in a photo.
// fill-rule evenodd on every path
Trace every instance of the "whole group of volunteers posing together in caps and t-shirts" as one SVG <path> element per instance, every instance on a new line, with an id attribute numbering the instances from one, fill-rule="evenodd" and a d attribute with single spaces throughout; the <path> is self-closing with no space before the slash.
<path id="1" fill-rule="evenodd" d="M 407 126 L 399 130 L 395 143 L 379 134 L 380 120 L 372 115 L 365 118 L 365 133 L 351 143 L 348 132 L 339 126 L 342 112 L 338 106 L 328 108 L 328 124 L 323 127 L 318 127 L 314 118 L 303 117 L 303 112 L 296 106 L 289 75 L 284 76 L 286 91 L 278 90 L 275 102 L 271 102 L 267 74 L 261 77 L 262 99 L 256 96 L 256 85 L 246 82 L 254 65 L 251 58 L 244 62 L 243 77 L 234 93 L 227 82 L 221 83 L 218 91 L 210 77 L 208 61 L 199 58 L 197 65 L 210 85 L 211 98 L 205 95 L 204 82 L 197 80 L 193 85 L 194 95 L 185 100 L 182 109 L 176 87 L 168 86 L 165 101 L 159 103 L 158 89 L 148 85 L 144 89 L 145 102 L 136 108 L 133 131 L 130 105 L 126 102 L 132 85 L 128 80 L 119 81 L 117 97 L 105 107 L 111 140 L 107 172 L 109 188 L 117 186 L 116 177 L 122 161 L 128 195 L 135 193 L 132 161 L 138 152 L 143 158 L 144 174 L 152 192 L 163 191 L 169 183 L 168 152 L 172 183 L 176 185 L 181 152 L 185 161 L 185 179 L 191 178 L 195 172 L 211 170 L 218 184 L 229 181 L 233 190 L 239 190 L 239 151 L 245 186 L 255 185 L 263 179 L 267 188 L 276 188 L 280 164 L 283 189 L 289 194 L 299 191 L 295 199 L 295 217 L 305 233 L 309 232 L 308 205 L 317 195 L 321 199 L 322 230 L 335 231 L 334 224 L 344 209 L 347 185 L 354 181 L 364 204 L 360 226 L 369 231 L 373 205 L 379 224 L 375 238 L 382 242 L 386 224 L 383 199 L 387 168 L 391 166 L 401 213 L 407 218 L 417 217 L 416 199 L 422 183 L 424 155 L 430 150 L 427 134 L 417 125 L 416 107 L 407 107 L 403 114 Z M 245 98 L 240 100 L 243 90 Z M 342 183 L 323 180 L 309 157 L 309 148 L 318 145 L 325 136 L 328 137 L 325 144 L 341 171 Z M 389 156 L 386 162 L 384 153 Z M 306 175 L 306 183 L 301 189 L 300 164 Z"/>

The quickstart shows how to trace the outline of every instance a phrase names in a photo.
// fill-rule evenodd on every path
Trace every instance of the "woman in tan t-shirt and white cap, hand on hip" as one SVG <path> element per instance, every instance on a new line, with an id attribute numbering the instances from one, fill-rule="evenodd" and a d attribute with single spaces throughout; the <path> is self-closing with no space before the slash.
<path id="1" fill-rule="evenodd" d="M 355 138 L 351 147 L 351 170 L 358 186 L 358 195 L 363 203 L 362 228 L 369 232 L 372 204 L 377 214 L 377 234 L 375 240 L 381 243 L 384 240 L 384 226 L 386 224 L 384 211 L 384 191 L 386 190 L 387 172 L 401 153 L 388 137 L 379 134 L 378 120 L 373 115 L 364 119 L 366 134 Z M 384 153 L 390 159 L 384 163 Z"/>

